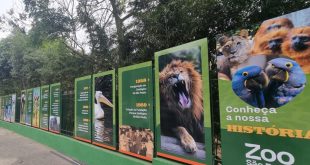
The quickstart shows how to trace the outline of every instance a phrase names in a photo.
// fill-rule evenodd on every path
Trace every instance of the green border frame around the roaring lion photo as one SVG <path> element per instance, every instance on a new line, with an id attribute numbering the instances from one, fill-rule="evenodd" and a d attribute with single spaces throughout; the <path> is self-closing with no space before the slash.
<path id="1" fill-rule="evenodd" d="M 177 154 L 173 154 L 170 152 L 166 152 L 161 150 L 161 128 L 160 128 L 160 96 L 159 96 L 159 57 L 162 55 L 166 55 L 168 53 L 181 51 L 184 49 L 190 49 L 195 46 L 200 46 L 201 48 L 201 77 L 203 81 L 203 108 L 204 108 L 204 134 L 205 134 L 205 152 L 206 159 L 198 160 L 190 157 L 184 157 Z M 189 43 L 185 43 L 183 45 L 179 45 L 176 47 L 164 49 L 158 52 L 155 52 L 155 129 L 156 129 L 156 149 L 157 156 L 177 160 L 183 163 L 188 164 L 197 164 L 197 165 L 211 165 L 213 162 L 213 147 L 212 147 L 212 127 L 211 127 L 211 106 L 210 106 L 210 79 L 209 79 L 209 52 L 208 52 L 208 39 L 203 38 L 200 40 L 192 41 Z M 207 146 L 207 147 L 206 147 Z"/>

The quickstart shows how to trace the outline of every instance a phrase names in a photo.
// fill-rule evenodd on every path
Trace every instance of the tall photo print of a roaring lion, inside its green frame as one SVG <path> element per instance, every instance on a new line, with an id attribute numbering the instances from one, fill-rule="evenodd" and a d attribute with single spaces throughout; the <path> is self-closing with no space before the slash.
<path id="1" fill-rule="evenodd" d="M 200 47 L 159 57 L 161 149 L 205 159 Z"/>

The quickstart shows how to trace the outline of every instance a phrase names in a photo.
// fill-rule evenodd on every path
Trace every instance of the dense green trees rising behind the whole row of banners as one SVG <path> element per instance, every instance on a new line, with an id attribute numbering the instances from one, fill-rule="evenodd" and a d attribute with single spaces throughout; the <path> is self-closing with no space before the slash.
<path id="1" fill-rule="evenodd" d="M 304 9 L 309 0 L 23 0 L 0 17 L 1 94 L 152 60 L 155 51 Z M 30 30 L 22 23 L 31 20 Z M 1 30 L 1 29 L 0 29 Z M 81 34 L 82 33 L 82 34 Z M 82 40 L 80 39 L 81 36 Z"/>

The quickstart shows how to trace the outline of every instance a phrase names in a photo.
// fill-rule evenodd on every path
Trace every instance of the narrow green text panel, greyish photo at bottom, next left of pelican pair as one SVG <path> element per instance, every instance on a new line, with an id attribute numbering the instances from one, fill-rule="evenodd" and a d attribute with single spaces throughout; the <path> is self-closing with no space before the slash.
<path id="1" fill-rule="evenodd" d="M 61 89 L 60 83 L 50 85 L 49 131 L 60 133 Z"/>

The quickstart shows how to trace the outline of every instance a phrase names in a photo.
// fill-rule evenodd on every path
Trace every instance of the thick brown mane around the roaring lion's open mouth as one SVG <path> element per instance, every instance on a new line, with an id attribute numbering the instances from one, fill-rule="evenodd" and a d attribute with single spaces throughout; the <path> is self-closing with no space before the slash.
<path id="1" fill-rule="evenodd" d="M 175 100 L 173 87 L 169 85 L 169 78 L 175 74 L 185 77 L 185 84 L 192 103 L 190 108 L 183 111 Z M 160 72 L 159 81 L 162 127 L 169 129 L 183 126 L 197 140 L 195 137 L 203 134 L 203 102 L 202 79 L 195 70 L 194 64 L 188 61 L 173 60 Z M 199 138 L 203 138 L 203 136 Z"/>

